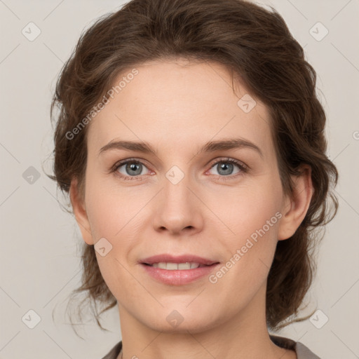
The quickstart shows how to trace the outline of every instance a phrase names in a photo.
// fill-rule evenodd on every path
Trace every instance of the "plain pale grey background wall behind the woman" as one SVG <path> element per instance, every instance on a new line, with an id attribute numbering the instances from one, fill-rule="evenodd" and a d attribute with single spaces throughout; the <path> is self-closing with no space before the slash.
<path id="1" fill-rule="evenodd" d="M 64 318 L 67 296 L 81 279 L 77 246 L 82 240 L 41 165 L 50 171 L 50 100 L 63 63 L 83 29 L 122 4 L 0 0 L 1 359 L 98 359 L 121 338 L 117 308 L 103 316 L 110 332 L 95 321 L 79 327 L 85 340 Z M 328 154 L 340 173 L 339 211 L 318 248 L 317 277 L 301 314 L 319 312 L 276 334 L 302 341 L 320 358 L 359 358 L 359 1 L 259 4 L 271 4 L 283 15 L 316 69 L 327 112 Z M 36 31 L 41 33 L 32 39 Z"/>

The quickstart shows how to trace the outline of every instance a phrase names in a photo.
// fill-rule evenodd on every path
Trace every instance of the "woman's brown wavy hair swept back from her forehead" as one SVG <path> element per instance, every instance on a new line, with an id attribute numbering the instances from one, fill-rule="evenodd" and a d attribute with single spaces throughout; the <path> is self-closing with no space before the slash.
<path id="1" fill-rule="evenodd" d="M 316 271 L 313 250 L 323 238 L 313 230 L 323 228 L 337 212 L 332 189 L 338 172 L 325 154 L 326 116 L 316 95 L 316 72 L 275 9 L 243 0 L 132 0 L 97 19 L 81 34 L 57 79 L 50 109 L 55 149 L 49 177 L 65 195 L 76 177 L 84 196 L 90 125 L 71 139 L 69 133 L 106 100 L 119 74 L 150 60 L 178 57 L 219 62 L 264 102 L 286 194 L 292 194 L 290 175 L 299 174 L 303 163 L 311 166 L 314 192 L 309 210 L 294 235 L 278 241 L 266 292 L 271 330 L 307 319 L 296 317 Z M 54 119 L 55 107 L 60 111 Z M 82 245 L 82 284 L 72 296 L 86 295 L 78 313 L 85 304 L 88 309 L 89 301 L 104 329 L 98 319 L 116 305 L 116 298 L 104 283 L 93 245 Z M 104 307 L 100 313 L 97 304 Z M 287 320 L 290 317 L 294 319 Z"/>

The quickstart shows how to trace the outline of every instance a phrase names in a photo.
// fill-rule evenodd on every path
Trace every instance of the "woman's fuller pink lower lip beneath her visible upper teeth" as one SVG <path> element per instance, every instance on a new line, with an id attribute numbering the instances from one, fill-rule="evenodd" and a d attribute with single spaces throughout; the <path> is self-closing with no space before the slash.
<path id="1" fill-rule="evenodd" d="M 218 265 L 219 263 L 212 264 L 211 266 L 201 266 L 195 269 L 168 270 L 141 264 L 144 270 L 147 271 L 152 278 L 168 285 L 184 285 L 194 282 L 204 276 L 209 276 Z"/>

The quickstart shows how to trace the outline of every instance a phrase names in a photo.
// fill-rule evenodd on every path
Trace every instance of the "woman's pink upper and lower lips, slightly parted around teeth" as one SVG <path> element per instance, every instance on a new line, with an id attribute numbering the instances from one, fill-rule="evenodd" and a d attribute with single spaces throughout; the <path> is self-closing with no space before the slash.
<path id="1" fill-rule="evenodd" d="M 168 270 L 155 268 L 153 266 L 147 265 L 159 262 L 196 262 L 205 266 L 198 267 L 195 269 Z M 148 257 L 146 259 L 141 259 L 140 265 L 149 276 L 154 278 L 154 280 L 158 281 L 159 283 L 163 283 L 166 285 L 186 285 L 189 283 L 193 283 L 194 281 L 199 280 L 204 276 L 209 276 L 212 271 L 215 271 L 217 269 L 217 266 L 219 266 L 219 262 L 213 261 L 211 259 L 205 259 L 203 257 L 197 257 L 195 255 L 156 255 Z"/>

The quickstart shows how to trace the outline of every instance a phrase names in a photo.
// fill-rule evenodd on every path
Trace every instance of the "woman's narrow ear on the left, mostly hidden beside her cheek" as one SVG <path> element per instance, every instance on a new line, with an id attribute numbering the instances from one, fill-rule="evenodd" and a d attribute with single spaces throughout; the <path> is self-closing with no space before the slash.
<path id="1" fill-rule="evenodd" d="M 94 244 L 93 236 L 91 234 L 90 222 L 88 221 L 85 201 L 79 193 L 79 184 L 76 178 L 73 178 L 71 181 L 69 194 L 72 209 L 74 211 L 76 222 L 79 225 L 83 241 L 85 241 L 88 245 L 92 245 Z"/>

